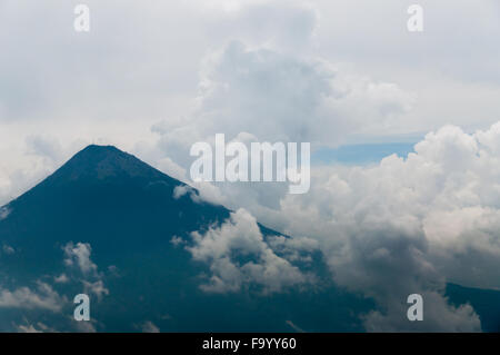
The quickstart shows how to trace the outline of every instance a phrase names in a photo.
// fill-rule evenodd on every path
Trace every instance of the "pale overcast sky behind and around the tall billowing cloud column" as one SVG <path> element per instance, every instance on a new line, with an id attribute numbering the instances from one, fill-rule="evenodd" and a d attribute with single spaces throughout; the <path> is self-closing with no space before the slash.
<path id="1" fill-rule="evenodd" d="M 377 124 L 360 112 L 348 140 L 472 130 L 500 117 L 494 0 L 420 1 L 421 33 L 407 31 L 412 1 L 400 0 L 87 1 L 89 33 L 73 30 L 77 3 L 0 2 L 2 151 L 37 134 L 131 149 L 154 122 L 191 115 L 203 63 L 230 41 L 396 86 L 371 99 L 404 110 Z"/>

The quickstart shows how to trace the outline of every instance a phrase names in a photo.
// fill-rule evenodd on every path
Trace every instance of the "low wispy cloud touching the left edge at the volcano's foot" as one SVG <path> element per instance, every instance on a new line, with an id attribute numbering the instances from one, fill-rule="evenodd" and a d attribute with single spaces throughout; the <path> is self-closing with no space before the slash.
<path id="1" fill-rule="evenodd" d="M 0 308 L 61 310 L 67 303 L 64 297 L 52 289 L 49 284 L 38 282 L 37 290 L 20 287 L 14 290 L 0 289 Z"/>

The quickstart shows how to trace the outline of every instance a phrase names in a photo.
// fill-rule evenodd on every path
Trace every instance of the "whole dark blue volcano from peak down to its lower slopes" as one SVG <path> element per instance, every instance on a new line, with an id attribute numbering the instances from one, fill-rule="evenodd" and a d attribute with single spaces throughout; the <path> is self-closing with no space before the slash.
<path id="1" fill-rule="evenodd" d="M 310 265 L 319 279 L 314 287 L 273 294 L 251 287 L 228 294 L 200 289 L 209 266 L 194 262 L 183 246 L 191 243 L 191 231 L 220 225 L 231 211 L 193 199 L 196 189 L 176 198 L 177 187 L 187 186 L 132 155 L 89 146 L 2 207 L 0 331 L 33 324 L 86 331 L 72 319 L 72 298 L 80 293 L 91 295 L 91 325 L 101 332 L 140 332 L 147 322 L 163 332 L 363 329 L 359 315 L 373 303 L 337 288 L 320 253 Z M 264 240 L 281 235 L 259 227 Z M 79 273 L 64 263 L 64 248 L 78 243 L 90 245 L 97 269 Z M 33 296 L 37 292 L 41 295 Z M 472 306 L 484 299 L 460 287 L 451 287 L 450 295 Z M 60 309 L 40 307 L 47 299 Z M 487 324 L 498 326 L 494 319 Z"/>

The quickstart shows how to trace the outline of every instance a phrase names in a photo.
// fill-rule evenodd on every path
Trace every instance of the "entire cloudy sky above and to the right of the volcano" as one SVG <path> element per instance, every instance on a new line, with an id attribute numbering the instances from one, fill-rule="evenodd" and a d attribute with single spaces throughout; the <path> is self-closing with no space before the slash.
<path id="1" fill-rule="evenodd" d="M 420 0 L 422 32 L 406 0 L 88 0 L 77 32 L 80 2 L 0 0 L 0 204 L 89 144 L 189 181 L 216 134 L 308 141 L 304 196 L 197 187 L 319 240 L 334 280 L 388 309 L 367 329 L 403 328 L 392 298 L 412 289 L 432 329 L 478 329 L 442 288 L 500 288 L 498 1 Z"/>

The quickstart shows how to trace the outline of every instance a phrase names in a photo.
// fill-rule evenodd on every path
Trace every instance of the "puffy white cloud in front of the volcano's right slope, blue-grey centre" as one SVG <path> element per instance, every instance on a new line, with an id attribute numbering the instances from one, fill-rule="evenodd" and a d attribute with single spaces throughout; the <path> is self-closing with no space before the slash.
<path id="1" fill-rule="evenodd" d="M 313 282 L 287 259 L 279 257 L 266 244 L 256 219 L 244 209 L 231 213 L 220 227 L 206 233 L 191 233 L 193 246 L 187 249 L 192 258 L 209 265 L 210 283 L 206 292 L 239 292 L 258 285 L 263 293 L 280 292 L 287 287 Z M 244 262 L 244 258 L 252 259 Z"/>

